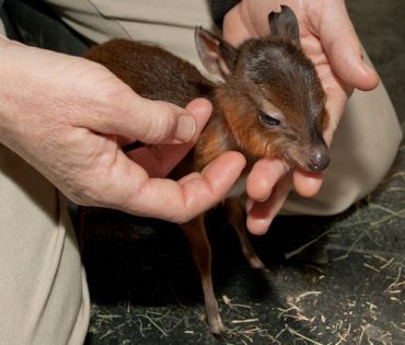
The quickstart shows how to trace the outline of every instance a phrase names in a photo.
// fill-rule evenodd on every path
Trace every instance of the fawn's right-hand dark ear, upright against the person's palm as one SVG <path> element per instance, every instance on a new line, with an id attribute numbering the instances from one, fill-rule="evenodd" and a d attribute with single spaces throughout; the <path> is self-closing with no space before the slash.
<path id="1" fill-rule="evenodd" d="M 294 45 L 300 46 L 298 20 L 289 7 L 281 5 L 280 12 L 270 12 L 268 23 L 273 36 L 291 41 Z"/>

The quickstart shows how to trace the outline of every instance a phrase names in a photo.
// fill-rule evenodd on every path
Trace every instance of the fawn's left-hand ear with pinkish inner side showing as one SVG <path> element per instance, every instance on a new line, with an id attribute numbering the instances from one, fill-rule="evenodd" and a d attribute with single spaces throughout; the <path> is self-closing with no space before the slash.
<path id="1" fill-rule="evenodd" d="M 196 27 L 194 38 L 206 70 L 217 81 L 224 82 L 236 65 L 238 49 L 202 27 Z"/>

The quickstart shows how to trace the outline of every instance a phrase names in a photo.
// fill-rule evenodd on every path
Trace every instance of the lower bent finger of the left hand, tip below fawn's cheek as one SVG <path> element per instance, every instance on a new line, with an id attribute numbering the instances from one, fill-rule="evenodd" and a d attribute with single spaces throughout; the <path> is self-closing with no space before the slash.
<path id="1" fill-rule="evenodd" d="M 177 182 L 150 179 L 141 166 L 131 162 L 125 189 L 117 196 L 117 208 L 138 216 L 186 222 L 227 196 L 245 162 L 241 153 L 227 152 L 201 173 L 192 173 Z M 111 183 L 114 184 L 111 188 L 123 189 L 121 180 L 114 177 Z"/>

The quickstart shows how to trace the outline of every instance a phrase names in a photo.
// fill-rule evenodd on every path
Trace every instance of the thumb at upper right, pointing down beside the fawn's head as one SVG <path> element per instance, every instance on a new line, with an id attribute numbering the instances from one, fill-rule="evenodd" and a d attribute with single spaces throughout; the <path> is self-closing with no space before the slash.
<path id="1" fill-rule="evenodd" d="M 346 84 L 372 90 L 379 83 L 377 72 L 363 61 L 363 54 L 345 1 L 328 1 L 322 13 L 321 42 L 335 73 Z"/>

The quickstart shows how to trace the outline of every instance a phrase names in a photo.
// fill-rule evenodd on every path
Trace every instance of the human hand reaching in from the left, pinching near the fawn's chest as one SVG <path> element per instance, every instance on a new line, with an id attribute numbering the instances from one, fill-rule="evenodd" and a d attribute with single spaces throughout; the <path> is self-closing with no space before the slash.
<path id="1" fill-rule="evenodd" d="M 162 179 L 211 112 L 135 94 L 99 64 L 0 39 L 0 140 L 85 206 L 184 222 L 219 203 L 245 165 L 228 152 L 201 173 Z M 126 154 L 124 141 L 152 143 Z"/>

